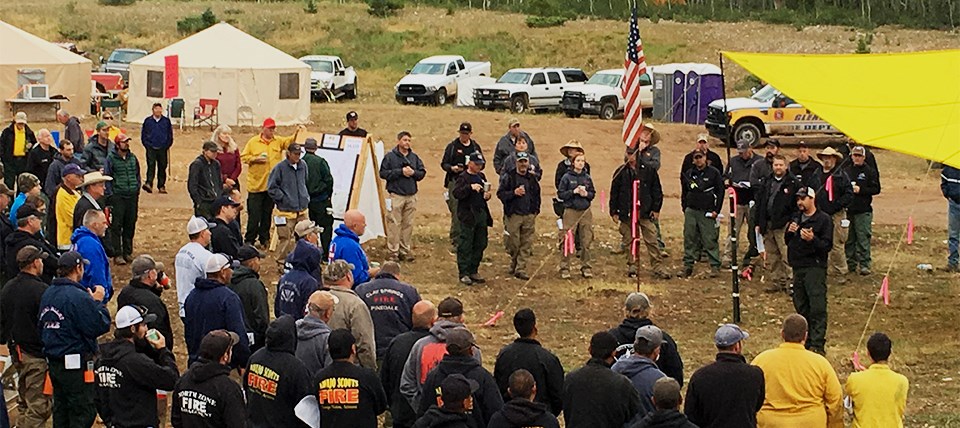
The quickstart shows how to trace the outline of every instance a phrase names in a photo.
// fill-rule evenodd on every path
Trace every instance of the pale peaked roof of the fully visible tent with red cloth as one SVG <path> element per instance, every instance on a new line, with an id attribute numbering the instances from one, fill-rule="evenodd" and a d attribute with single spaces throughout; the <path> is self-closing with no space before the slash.
<path id="1" fill-rule="evenodd" d="M 140 58 L 132 65 L 163 67 L 163 58 L 169 55 L 178 55 L 182 68 L 289 70 L 310 67 L 225 22 Z"/>

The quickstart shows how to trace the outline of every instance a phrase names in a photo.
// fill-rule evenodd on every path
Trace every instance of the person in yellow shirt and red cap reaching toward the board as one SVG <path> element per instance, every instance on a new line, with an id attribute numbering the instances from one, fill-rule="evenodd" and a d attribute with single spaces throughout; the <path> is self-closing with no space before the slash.
<path id="1" fill-rule="evenodd" d="M 289 137 L 276 134 L 277 122 L 273 118 L 263 120 L 260 134 L 254 135 L 240 152 L 240 161 L 247 165 L 247 232 L 243 241 L 253 245 L 259 240 L 266 247 L 270 242 L 270 219 L 273 199 L 267 194 L 267 177 L 273 166 L 283 160 L 290 143 L 296 141 L 303 125 Z"/>

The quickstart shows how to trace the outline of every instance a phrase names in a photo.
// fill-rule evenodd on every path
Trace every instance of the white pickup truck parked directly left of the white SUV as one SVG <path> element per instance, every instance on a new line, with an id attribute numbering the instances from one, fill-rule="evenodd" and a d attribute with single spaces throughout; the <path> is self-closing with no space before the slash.
<path id="1" fill-rule="evenodd" d="M 490 62 L 464 61 L 460 55 L 437 55 L 420 60 L 397 85 L 400 104 L 444 105 L 457 96 L 457 81 L 466 77 L 489 76 Z"/>

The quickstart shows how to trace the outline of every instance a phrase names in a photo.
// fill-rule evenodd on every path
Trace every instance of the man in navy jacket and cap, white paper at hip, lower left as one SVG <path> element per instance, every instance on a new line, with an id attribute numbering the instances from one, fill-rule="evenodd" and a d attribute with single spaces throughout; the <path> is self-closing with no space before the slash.
<path id="1" fill-rule="evenodd" d="M 57 277 L 40 299 L 40 340 L 53 385 L 54 426 L 92 426 L 97 417 L 93 375 L 97 337 L 110 331 L 105 291 L 80 285 L 90 262 L 76 251 L 60 256 Z"/>

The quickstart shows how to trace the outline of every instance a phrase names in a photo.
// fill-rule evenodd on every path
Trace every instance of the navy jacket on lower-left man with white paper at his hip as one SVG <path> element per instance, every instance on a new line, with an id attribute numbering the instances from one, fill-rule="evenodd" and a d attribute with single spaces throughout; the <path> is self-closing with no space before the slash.
<path id="1" fill-rule="evenodd" d="M 40 298 L 40 340 L 43 354 L 95 354 L 97 337 L 110 331 L 110 311 L 87 289 L 68 278 L 53 280 Z"/>

